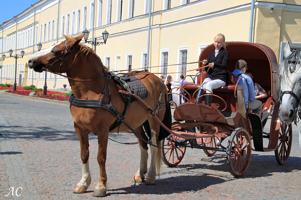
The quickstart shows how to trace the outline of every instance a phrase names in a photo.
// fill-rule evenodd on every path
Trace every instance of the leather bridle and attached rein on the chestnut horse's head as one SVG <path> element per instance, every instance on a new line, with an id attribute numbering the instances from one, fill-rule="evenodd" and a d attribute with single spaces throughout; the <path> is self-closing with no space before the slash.
<path id="1" fill-rule="evenodd" d="M 42 70 L 44 71 L 48 71 L 48 72 L 51 72 L 51 73 L 54 73 L 54 74 L 58 74 L 62 77 L 65 77 L 65 78 L 68 78 L 68 79 L 71 79 L 71 80 L 76 80 L 76 81 L 92 81 L 92 80 L 101 80 L 101 79 L 110 79 L 111 76 L 109 74 L 107 74 L 104 70 L 104 74 L 107 74 L 106 76 L 104 77 L 101 77 L 101 78 L 97 78 L 97 79 L 77 79 L 77 78 L 71 78 L 71 77 L 68 77 L 68 76 L 65 76 L 63 74 L 61 74 L 61 67 L 62 67 L 62 63 L 63 63 L 63 60 L 64 58 L 69 55 L 71 52 L 73 52 L 73 48 L 71 49 L 68 49 L 67 48 L 67 45 L 66 45 L 66 40 L 64 41 L 64 46 L 65 46 L 65 49 L 67 50 L 67 53 L 65 53 L 61 58 L 57 59 L 56 61 L 54 61 L 53 63 L 51 64 L 46 64 L 45 67 L 51 67 L 53 64 L 55 64 L 57 61 L 60 61 L 61 60 L 61 64 L 60 64 L 60 67 L 59 67 L 59 70 L 58 70 L 58 73 L 57 72 L 54 72 L 54 71 L 51 71 L 45 67 L 42 67 Z"/>

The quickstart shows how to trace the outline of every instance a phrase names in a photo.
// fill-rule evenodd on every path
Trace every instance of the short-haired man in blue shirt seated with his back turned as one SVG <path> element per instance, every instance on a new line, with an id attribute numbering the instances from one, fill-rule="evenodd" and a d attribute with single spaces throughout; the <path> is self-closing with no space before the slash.
<path id="1" fill-rule="evenodd" d="M 245 102 L 246 109 L 249 107 L 250 109 L 253 110 L 255 114 L 258 114 L 259 117 L 261 117 L 262 102 L 255 99 L 254 83 L 249 76 L 244 74 L 246 70 L 247 70 L 247 62 L 244 60 L 239 60 L 235 64 L 235 70 L 233 71 L 233 74 L 237 77 L 242 76 L 245 78 L 245 79 L 244 78 L 240 79 L 238 84 L 243 86 L 244 102 Z M 238 79 L 239 78 L 237 78 L 237 80 Z M 250 102 L 249 102 L 249 98 L 250 98 Z"/>

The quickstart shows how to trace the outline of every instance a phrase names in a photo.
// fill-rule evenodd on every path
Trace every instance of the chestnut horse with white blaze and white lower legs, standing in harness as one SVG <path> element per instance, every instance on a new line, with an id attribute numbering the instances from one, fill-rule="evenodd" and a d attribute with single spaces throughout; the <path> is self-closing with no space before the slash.
<path id="1" fill-rule="evenodd" d="M 79 42 L 83 35 L 75 38 L 65 36 L 64 42 L 59 42 L 56 45 L 41 50 L 33 54 L 28 61 L 28 66 L 36 72 L 42 72 L 43 67 L 58 73 L 66 73 L 69 84 L 72 88 L 74 96 L 77 99 L 89 99 L 100 101 L 103 91 L 104 102 L 109 103 L 109 91 L 105 82 L 108 81 L 110 85 L 110 93 L 112 94 L 112 105 L 120 113 L 125 109 L 125 102 L 122 95 L 118 92 L 120 88 L 114 83 L 113 79 L 106 79 L 105 73 L 108 72 L 107 67 L 103 65 L 101 59 L 96 55 L 92 48 L 89 48 Z M 71 78 L 70 78 L 71 77 Z M 99 79 L 101 78 L 102 79 Z M 160 99 L 161 102 L 166 103 L 166 87 L 162 87 L 163 82 L 154 74 L 135 75 L 144 83 L 147 88 L 148 96 L 144 101 L 151 107 L 155 108 Z M 75 79 L 75 80 L 74 80 Z M 80 79 L 80 80 L 77 80 Z M 83 81 L 90 79 L 90 81 Z M 106 87 L 106 88 L 105 88 Z M 162 89 L 163 88 L 163 89 Z M 160 106 L 160 109 L 166 110 L 166 105 Z M 107 172 L 105 168 L 107 159 L 107 142 L 109 127 L 115 122 L 116 117 L 108 110 L 96 107 L 79 107 L 70 105 L 70 111 L 74 119 L 74 129 L 80 142 L 80 156 L 82 159 L 82 179 L 77 183 L 74 193 L 86 192 L 91 183 L 91 175 L 89 171 L 89 142 L 88 134 L 94 133 L 98 137 L 98 154 L 97 161 L 99 164 L 99 181 L 93 196 L 103 197 L 106 195 L 107 186 Z M 165 112 L 159 112 L 157 117 L 162 121 Z M 151 128 L 151 143 L 161 147 L 161 142 L 158 140 L 160 124 L 150 115 L 150 112 L 145 109 L 138 101 L 132 102 L 126 112 L 125 122 L 129 124 L 142 138 L 147 141 L 142 124 L 148 120 Z M 124 124 L 119 128 L 120 132 L 129 131 Z M 117 132 L 117 128 L 110 131 Z M 142 182 L 147 173 L 147 143 L 138 139 L 140 147 L 140 167 L 133 178 L 134 182 Z M 151 166 L 149 167 L 146 181 L 147 185 L 155 184 L 156 172 L 160 174 L 161 166 L 161 149 L 154 146 L 151 148 Z M 156 171 L 157 167 L 157 171 Z"/>

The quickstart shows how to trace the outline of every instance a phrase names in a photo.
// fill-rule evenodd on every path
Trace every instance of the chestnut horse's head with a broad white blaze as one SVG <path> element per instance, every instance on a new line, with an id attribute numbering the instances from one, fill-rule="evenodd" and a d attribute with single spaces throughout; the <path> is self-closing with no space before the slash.
<path id="1" fill-rule="evenodd" d="M 72 54 L 73 48 L 79 44 L 83 36 L 84 35 L 80 35 L 73 38 L 64 35 L 66 38 L 65 41 L 58 42 L 56 45 L 43 49 L 30 56 L 28 61 L 29 68 L 36 72 L 42 72 L 43 67 L 59 73 L 69 71 L 70 61 L 72 63 L 74 57 L 67 55 L 70 53 Z M 64 63 L 69 64 L 60 66 L 62 59 L 64 59 Z"/>

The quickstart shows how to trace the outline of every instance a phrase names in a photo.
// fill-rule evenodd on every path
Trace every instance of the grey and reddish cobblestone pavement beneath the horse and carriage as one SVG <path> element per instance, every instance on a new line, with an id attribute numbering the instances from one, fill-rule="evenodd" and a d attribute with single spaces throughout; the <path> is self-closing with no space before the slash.
<path id="1" fill-rule="evenodd" d="M 99 168 L 93 134 L 89 142 L 92 183 L 85 194 L 72 192 L 81 179 L 82 164 L 69 105 L 0 93 L 0 133 L 0 199 L 96 199 L 92 191 Z M 110 138 L 136 141 L 129 133 L 110 134 Z M 274 152 L 253 151 L 241 178 L 228 172 L 225 153 L 207 157 L 201 149 L 187 149 L 177 167 L 162 165 L 155 186 L 132 183 L 139 166 L 138 145 L 109 140 L 107 149 L 110 188 L 104 200 L 300 199 L 301 150 L 296 129 L 286 165 L 277 164 Z M 20 196 L 9 194 L 10 187 L 22 187 L 17 192 Z"/>

